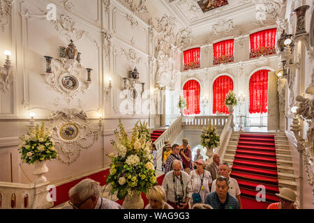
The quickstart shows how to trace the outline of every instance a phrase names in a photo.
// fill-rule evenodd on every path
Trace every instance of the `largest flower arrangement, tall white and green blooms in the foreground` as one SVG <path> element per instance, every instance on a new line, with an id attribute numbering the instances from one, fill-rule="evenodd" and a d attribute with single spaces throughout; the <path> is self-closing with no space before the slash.
<path id="1" fill-rule="evenodd" d="M 112 185 L 112 194 L 117 191 L 118 199 L 124 199 L 126 195 L 131 197 L 133 192 L 146 194 L 157 184 L 147 124 L 137 121 L 129 139 L 124 125 L 119 120 L 118 129 L 114 134 L 116 141 L 112 141 L 112 145 L 118 153 L 107 155 L 112 161 L 107 177 L 107 183 Z"/>

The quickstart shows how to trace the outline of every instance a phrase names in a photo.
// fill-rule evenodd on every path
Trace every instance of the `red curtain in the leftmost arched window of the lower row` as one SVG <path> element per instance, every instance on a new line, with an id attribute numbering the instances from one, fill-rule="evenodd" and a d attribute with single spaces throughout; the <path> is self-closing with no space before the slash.
<path id="1" fill-rule="evenodd" d="M 194 79 L 184 84 L 186 109 L 184 114 L 200 114 L 200 84 Z"/>

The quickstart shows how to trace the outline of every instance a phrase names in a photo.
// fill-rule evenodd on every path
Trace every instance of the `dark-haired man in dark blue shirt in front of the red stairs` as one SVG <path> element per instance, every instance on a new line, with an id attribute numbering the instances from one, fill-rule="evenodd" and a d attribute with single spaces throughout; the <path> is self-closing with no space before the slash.
<path id="1" fill-rule="evenodd" d="M 216 179 L 216 192 L 207 194 L 205 203 L 214 209 L 240 209 L 239 201 L 229 194 L 229 182 L 224 176 Z"/>

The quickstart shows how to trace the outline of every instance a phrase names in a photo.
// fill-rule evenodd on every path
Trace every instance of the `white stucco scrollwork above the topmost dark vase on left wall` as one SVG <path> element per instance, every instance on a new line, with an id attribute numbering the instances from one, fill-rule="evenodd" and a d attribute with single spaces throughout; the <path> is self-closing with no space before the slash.
<path id="1" fill-rule="evenodd" d="M 75 21 L 68 15 L 61 15 L 59 20 L 51 21 L 54 24 L 54 28 L 66 38 L 70 40 L 80 40 L 84 35 L 87 35 L 88 32 L 82 29 L 77 29 L 75 26 Z"/>

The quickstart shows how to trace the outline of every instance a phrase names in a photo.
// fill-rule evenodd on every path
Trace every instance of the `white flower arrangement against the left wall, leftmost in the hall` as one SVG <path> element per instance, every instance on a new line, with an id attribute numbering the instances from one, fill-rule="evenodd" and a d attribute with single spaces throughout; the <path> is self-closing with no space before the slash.
<path id="1" fill-rule="evenodd" d="M 22 144 L 19 146 L 21 159 L 27 164 L 33 164 L 36 161 L 42 162 L 57 158 L 57 151 L 54 147 L 54 141 L 51 139 L 52 131 L 45 130 L 45 123 L 35 128 L 29 128 L 29 132 L 24 134 Z"/>

